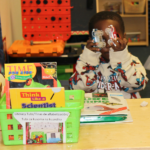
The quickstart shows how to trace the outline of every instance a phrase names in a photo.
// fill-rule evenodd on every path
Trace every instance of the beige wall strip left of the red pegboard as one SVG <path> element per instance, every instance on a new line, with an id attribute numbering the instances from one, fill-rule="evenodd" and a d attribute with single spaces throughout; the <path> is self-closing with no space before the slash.
<path id="1" fill-rule="evenodd" d="M 21 0 L 0 0 L 2 36 L 6 37 L 7 49 L 15 40 L 23 40 Z"/>

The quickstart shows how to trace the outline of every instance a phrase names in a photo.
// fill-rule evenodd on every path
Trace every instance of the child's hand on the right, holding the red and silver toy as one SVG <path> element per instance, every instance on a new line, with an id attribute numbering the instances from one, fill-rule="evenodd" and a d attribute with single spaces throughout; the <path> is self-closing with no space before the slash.
<path id="1" fill-rule="evenodd" d="M 111 47 L 114 51 L 122 51 L 125 49 L 128 41 L 126 38 L 120 39 L 117 38 L 116 40 L 113 40 L 114 43 L 111 43 Z"/>

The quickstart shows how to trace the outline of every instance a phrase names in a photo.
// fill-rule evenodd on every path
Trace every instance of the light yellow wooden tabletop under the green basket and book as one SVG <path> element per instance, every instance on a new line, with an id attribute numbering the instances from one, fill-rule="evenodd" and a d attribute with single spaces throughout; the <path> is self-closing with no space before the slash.
<path id="1" fill-rule="evenodd" d="M 142 101 L 147 101 L 148 106 L 140 107 Z M 0 150 L 149 150 L 150 99 L 128 99 L 127 102 L 132 123 L 80 126 L 79 142 L 71 144 L 4 146 L 0 132 Z"/>

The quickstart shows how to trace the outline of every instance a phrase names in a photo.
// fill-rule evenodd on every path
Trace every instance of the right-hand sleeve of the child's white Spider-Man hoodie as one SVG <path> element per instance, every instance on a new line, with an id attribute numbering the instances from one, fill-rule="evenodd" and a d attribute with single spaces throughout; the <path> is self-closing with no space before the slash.
<path id="1" fill-rule="evenodd" d="M 140 60 L 128 52 L 127 47 L 123 51 L 110 51 L 110 64 L 118 73 L 118 81 L 122 90 L 134 93 L 145 88 L 148 78 L 146 70 Z"/>

